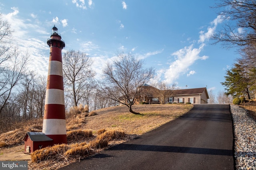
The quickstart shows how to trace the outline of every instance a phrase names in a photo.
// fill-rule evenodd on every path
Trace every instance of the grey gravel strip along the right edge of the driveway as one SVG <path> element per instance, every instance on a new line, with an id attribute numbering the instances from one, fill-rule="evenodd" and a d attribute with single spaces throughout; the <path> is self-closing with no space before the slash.
<path id="1" fill-rule="evenodd" d="M 234 157 L 237 170 L 256 170 L 256 121 L 250 112 L 230 105 L 234 128 Z"/>

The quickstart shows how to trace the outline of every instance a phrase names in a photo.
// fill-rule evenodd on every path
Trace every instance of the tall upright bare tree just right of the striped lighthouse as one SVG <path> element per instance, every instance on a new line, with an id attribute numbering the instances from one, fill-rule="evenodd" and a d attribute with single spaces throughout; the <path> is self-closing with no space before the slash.
<path id="1" fill-rule="evenodd" d="M 93 61 L 85 53 L 72 50 L 64 53 L 62 62 L 66 94 L 72 98 L 74 106 L 78 106 L 79 100 L 85 98 L 84 90 L 94 78 Z"/>

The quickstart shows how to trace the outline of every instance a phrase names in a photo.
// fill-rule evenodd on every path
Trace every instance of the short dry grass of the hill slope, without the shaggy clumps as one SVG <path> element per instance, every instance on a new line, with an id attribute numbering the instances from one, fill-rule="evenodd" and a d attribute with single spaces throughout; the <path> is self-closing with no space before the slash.
<path id="1" fill-rule="evenodd" d="M 193 105 L 191 104 L 166 104 L 166 105 L 135 105 L 133 106 L 134 111 L 140 112 L 140 115 L 134 115 L 130 113 L 127 106 L 116 106 L 116 107 L 108 107 L 104 109 L 99 109 L 94 111 L 96 115 L 88 116 L 90 113 L 80 113 L 69 117 L 66 120 L 67 131 L 77 131 L 77 130 L 85 130 L 91 129 L 93 132 L 93 137 L 90 137 L 86 140 L 78 140 L 76 138 L 68 138 L 68 145 L 79 145 L 79 143 L 89 143 L 91 140 L 94 140 L 98 135 L 97 132 L 101 129 L 122 129 L 124 133 L 127 134 L 126 139 L 118 139 L 114 141 L 110 141 L 109 145 L 116 145 L 118 143 L 122 143 L 126 140 L 132 139 L 132 137 L 136 135 L 141 135 L 146 133 L 152 129 L 167 123 L 180 115 L 188 112 L 192 109 Z M 36 121 L 35 121 L 36 122 Z M 2 133 L 0 134 L 0 143 L 4 141 L 8 144 L 8 148 L 0 147 L 0 154 L 6 154 L 10 152 L 16 152 L 24 150 L 24 141 L 22 141 L 22 137 L 24 137 L 26 131 L 28 129 L 32 129 L 32 127 L 42 126 L 41 121 L 39 121 L 40 125 L 31 125 L 17 128 L 15 131 Z M 41 129 L 41 127 L 38 127 Z M 14 139 L 17 132 L 19 132 L 19 139 Z M 13 144 L 13 141 L 16 140 L 17 143 Z M 12 147 L 19 145 L 18 147 Z M 80 158 L 80 157 L 78 157 Z M 65 161 L 57 161 L 57 160 L 48 160 L 42 161 L 40 163 L 28 162 L 28 165 L 32 169 L 41 169 L 42 167 L 46 169 L 55 169 L 56 167 L 61 167 L 71 162 L 74 162 L 78 158 L 73 158 L 72 160 Z"/>

